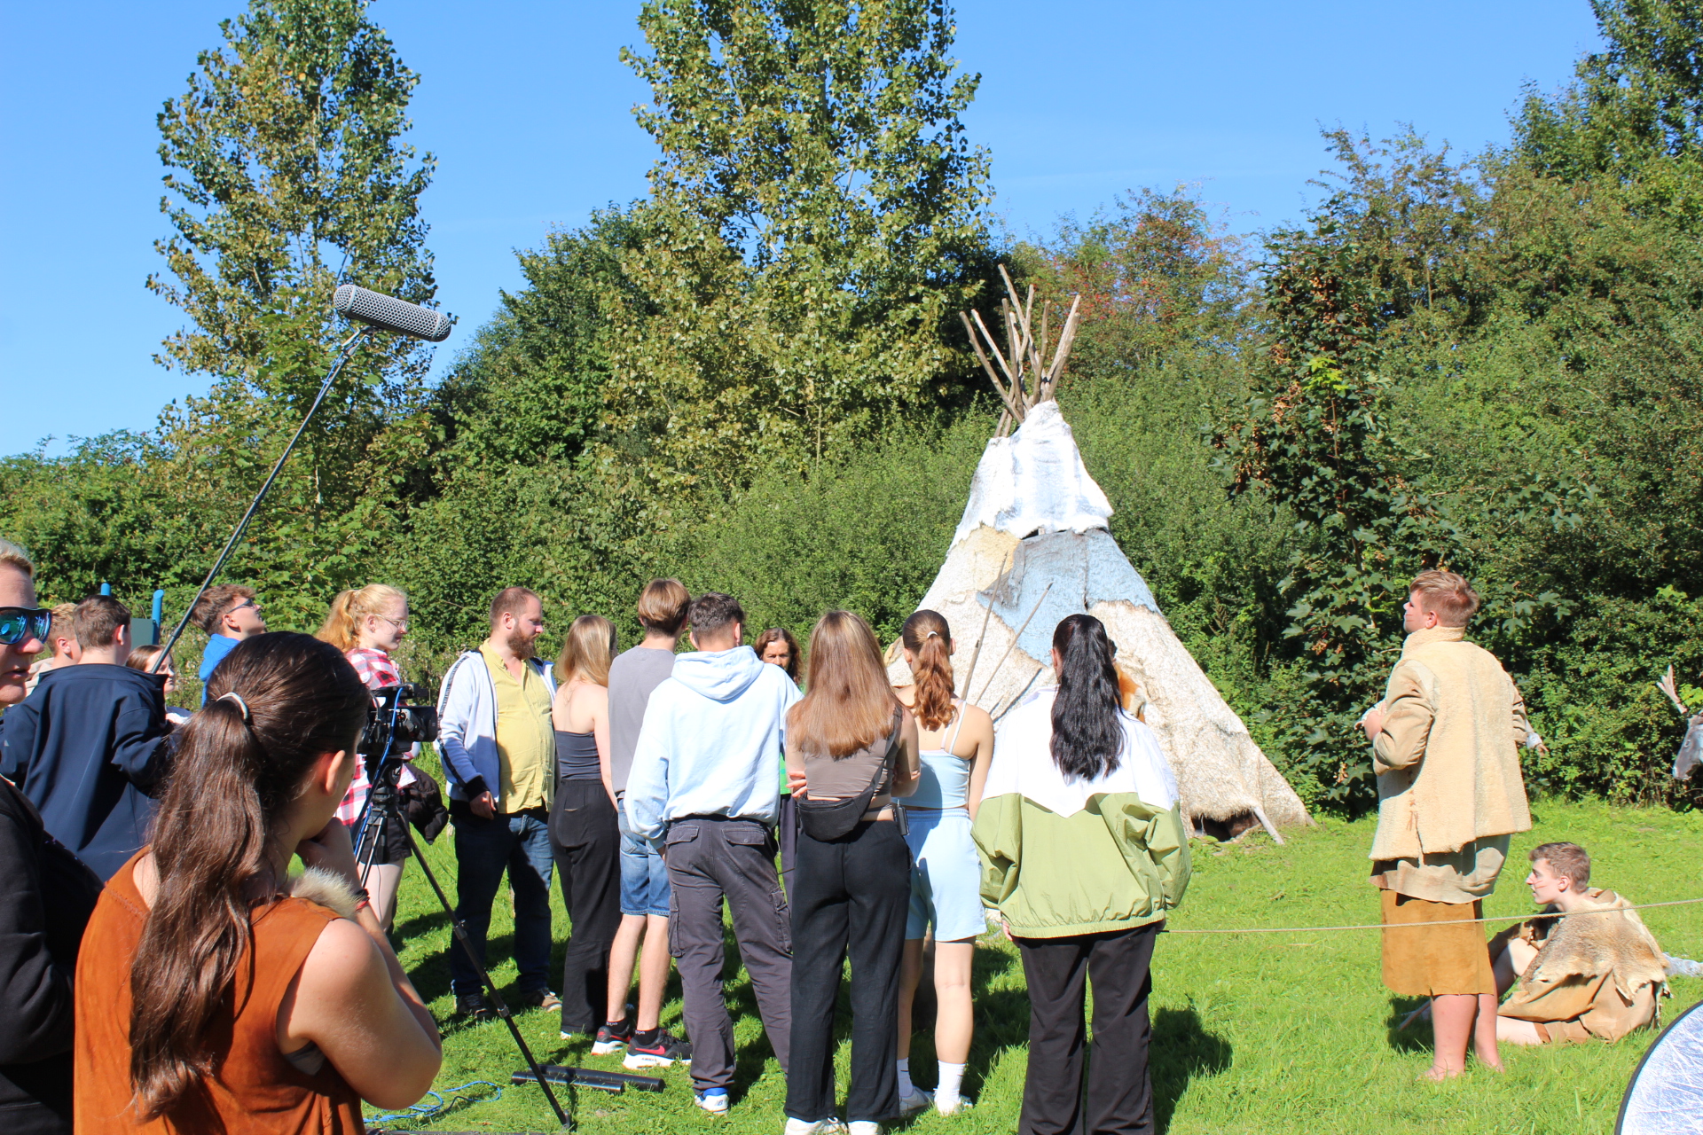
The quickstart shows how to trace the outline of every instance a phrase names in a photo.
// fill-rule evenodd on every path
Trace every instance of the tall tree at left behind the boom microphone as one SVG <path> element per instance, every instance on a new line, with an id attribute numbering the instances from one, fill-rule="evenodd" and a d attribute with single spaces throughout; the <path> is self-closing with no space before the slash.
<path id="1" fill-rule="evenodd" d="M 198 502 L 208 558 L 347 334 L 335 284 L 410 301 L 434 289 L 419 218 L 433 158 L 400 141 L 417 78 L 364 0 L 250 0 L 220 31 L 158 117 L 175 231 L 157 248 L 175 282 L 148 279 L 191 320 L 157 359 L 215 376 L 209 396 L 162 415 L 158 470 Z M 332 388 L 232 565 L 274 590 L 274 609 L 290 596 L 310 619 L 393 538 L 429 441 L 427 361 L 416 340 L 368 335 Z"/>

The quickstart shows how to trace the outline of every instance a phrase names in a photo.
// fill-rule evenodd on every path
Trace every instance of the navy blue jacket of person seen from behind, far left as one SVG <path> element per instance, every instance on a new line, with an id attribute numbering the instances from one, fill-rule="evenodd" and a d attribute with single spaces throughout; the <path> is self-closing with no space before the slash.
<path id="1" fill-rule="evenodd" d="M 43 674 L 5 713 L 0 776 L 104 880 L 148 842 L 170 764 L 163 687 L 158 674 L 80 662 Z"/>

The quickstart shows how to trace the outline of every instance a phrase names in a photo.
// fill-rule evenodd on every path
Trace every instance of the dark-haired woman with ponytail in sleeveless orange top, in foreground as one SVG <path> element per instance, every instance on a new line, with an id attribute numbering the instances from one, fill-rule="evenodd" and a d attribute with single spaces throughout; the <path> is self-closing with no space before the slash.
<path id="1" fill-rule="evenodd" d="M 438 1029 L 335 820 L 368 704 L 307 635 L 249 638 L 213 674 L 153 844 L 83 936 L 78 1132 L 359 1132 L 361 1099 L 431 1087 Z"/>

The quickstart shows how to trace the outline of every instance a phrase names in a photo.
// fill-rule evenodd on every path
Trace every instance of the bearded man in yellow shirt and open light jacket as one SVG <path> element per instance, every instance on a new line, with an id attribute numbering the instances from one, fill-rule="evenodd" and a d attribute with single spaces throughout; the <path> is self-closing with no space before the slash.
<path id="1" fill-rule="evenodd" d="M 450 779 L 455 825 L 456 909 L 485 961 L 490 904 L 509 873 L 514 892 L 514 967 L 518 1001 L 555 1009 L 550 992 L 550 798 L 555 732 L 550 701 L 555 677 L 533 657 L 543 631 L 543 602 L 525 587 L 506 587 L 490 601 L 490 636 L 443 676 L 438 754 Z M 489 1019 L 490 1004 L 467 955 L 451 946 L 455 1009 Z"/>

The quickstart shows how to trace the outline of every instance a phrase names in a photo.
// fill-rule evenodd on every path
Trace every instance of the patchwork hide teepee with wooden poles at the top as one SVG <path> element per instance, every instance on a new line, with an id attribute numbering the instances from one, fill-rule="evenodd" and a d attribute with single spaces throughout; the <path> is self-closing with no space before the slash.
<path id="1" fill-rule="evenodd" d="M 979 313 L 964 317 L 1005 412 L 976 466 L 947 560 L 916 604 L 952 625 L 957 693 L 998 721 L 1030 691 L 1052 684 L 1052 628 L 1087 611 L 1117 643 L 1126 706 L 1158 733 L 1190 825 L 1240 830 L 1259 822 L 1281 842 L 1279 827 L 1311 824 L 1306 807 L 1201 672 L 1112 539 L 1112 505 L 1083 466 L 1052 398 L 1076 335 L 1080 299 L 1044 366 L 1047 306 L 1037 335 L 1034 288 L 1018 299 L 1008 276 L 1005 286 L 1000 322 L 1006 351 L 998 349 Z M 897 643 L 889 652 L 889 676 L 899 686 L 911 681 Z"/>

